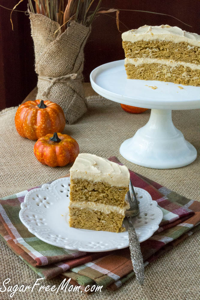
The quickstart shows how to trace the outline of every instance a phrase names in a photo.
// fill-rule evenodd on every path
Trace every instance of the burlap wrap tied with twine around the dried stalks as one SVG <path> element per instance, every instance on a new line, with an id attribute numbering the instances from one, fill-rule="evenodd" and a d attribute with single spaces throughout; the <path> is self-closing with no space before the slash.
<path id="1" fill-rule="evenodd" d="M 62 33 L 57 22 L 41 14 L 29 14 L 38 75 L 36 99 L 59 104 L 66 122 L 72 124 L 87 111 L 82 70 L 90 27 L 70 22 Z"/>

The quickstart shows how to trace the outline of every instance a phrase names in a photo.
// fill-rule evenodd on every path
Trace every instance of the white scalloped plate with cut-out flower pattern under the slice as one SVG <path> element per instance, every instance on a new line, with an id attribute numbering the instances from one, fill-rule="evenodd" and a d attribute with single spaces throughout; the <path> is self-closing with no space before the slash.
<path id="1" fill-rule="evenodd" d="M 115 233 L 76 229 L 68 225 L 69 177 L 30 190 L 21 204 L 19 218 L 40 240 L 58 247 L 87 252 L 111 251 L 129 246 L 128 231 Z M 150 194 L 134 187 L 140 213 L 134 218 L 139 241 L 145 241 L 158 229 L 163 212 Z M 127 226 L 126 218 L 124 225 Z"/>

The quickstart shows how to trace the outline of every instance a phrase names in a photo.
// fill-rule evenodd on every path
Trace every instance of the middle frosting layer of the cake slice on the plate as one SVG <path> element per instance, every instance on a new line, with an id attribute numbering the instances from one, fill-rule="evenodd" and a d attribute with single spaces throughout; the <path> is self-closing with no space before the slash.
<path id="1" fill-rule="evenodd" d="M 86 209 L 91 209 L 91 210 L 98 210 L 103 212 L 104 214 L 110 214 L 111 212 L 115 212 L 118 214 L 125 214 L 125 211 L 130 208 L 129 204 L 124 201 L 124 206 L 119 207 L 119 206 L 113 206 L 113 205 L 107 205 L 103 203 L 95 203 L 95 202 L 90 202 L 90 201 L 72 201 L 70 202 L 69 207 L 76 207 L 76 208 L 86 208 Z"/>

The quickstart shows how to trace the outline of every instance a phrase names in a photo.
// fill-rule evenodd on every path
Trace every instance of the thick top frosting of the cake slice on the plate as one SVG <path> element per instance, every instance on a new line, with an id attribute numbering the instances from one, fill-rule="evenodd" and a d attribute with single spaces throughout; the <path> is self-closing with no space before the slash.
<path id="1" fill-rule="evenodd" d="M 127 187 L 130 173 L 126 166 L 120 166 L 94 154 L 79 153 L 70 169 L 70 178 L 103 181 L 112 186 Z"/>

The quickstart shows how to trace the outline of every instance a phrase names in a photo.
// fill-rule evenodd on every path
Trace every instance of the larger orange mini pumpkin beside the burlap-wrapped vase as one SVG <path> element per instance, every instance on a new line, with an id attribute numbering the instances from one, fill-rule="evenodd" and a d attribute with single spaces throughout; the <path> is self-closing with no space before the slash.
<path id="1" fill-rule="evenodd" d="M 37 140 L 48 133 L 64 130 L 64 112 L 60 105 L 51 101 L 27 101 L 16 111 L 15 127 L 21 137 Z"/>

